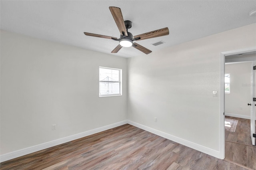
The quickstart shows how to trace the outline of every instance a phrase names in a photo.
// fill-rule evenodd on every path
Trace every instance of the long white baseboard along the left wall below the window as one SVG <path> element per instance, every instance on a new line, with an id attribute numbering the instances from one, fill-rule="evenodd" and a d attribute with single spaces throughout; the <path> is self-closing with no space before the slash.
<path id="1" fill-rule="evenodd" d="M 88 130 L 86 132 L 74 134 L 72 136 L 68 136 L 68 137 L 65 137 L 65 138 L 60 138 L 60 139 L 53 140 L 53 141 L 50 141 L 50 142 L 46 142 L 46 143 L 43 143 L 43 144 L 38 144 L 36 146 L 31 146 L 31 147 L 24 148 L 24 149 L 21 149 L 21 150 L 16 150 L 14 152 L 10 152 L 10 153 L 7 153 L 7 154 L 0 155 L 0 162 L 4 162 L 6 160 L 11 160 L 11 159 L 14 159 L 14 158 L 18 158 L 18 157 L 24 156 L 26 154 L 31 154 L 31 153 L 37 152 L 39 150 L 50 148 L 52 146 L 56 146 L 56 145 L 59 145 L 59 144 L 64 144 L 64 143 L 70 142 L 72 140 L 83 138 L 85 136 L 89 136 L 91 134 L 102 132 L 104 130 L 108 130 L 108 129 L 118 127 L 118 126 L 121 126 L 121 125 L 125 125 L 125 124 L 127 124 L 127 121 L 122 121 L 122 122 L 114 123 L 114 124 L 107 125 L 107 126 L 104 126 L 104 127 Z"/>

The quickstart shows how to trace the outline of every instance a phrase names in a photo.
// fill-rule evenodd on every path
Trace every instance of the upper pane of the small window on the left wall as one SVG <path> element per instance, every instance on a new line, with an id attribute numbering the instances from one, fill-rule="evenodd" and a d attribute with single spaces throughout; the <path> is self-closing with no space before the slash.
<path id="1" fill-rule="evenodd" d="M 119 70 L 100 68 L 100 81 L 119 81 Z"/>

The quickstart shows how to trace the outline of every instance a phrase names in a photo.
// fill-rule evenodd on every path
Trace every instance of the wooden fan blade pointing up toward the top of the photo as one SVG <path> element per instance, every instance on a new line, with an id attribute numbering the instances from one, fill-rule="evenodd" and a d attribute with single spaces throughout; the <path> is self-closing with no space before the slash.
<path id="1" fill-rule="evenodd" d="M 124 24 L 124 18 L 121 12 L 120 8 L 114 7 L 114 6 L 110 6 L 109 10 L 116 22 L 116 25 L 118 27 L 118 30 L 120 31 L 120 34 L 123 35 L 122 32 L 124 32 L 125 36 L 128 36 L 128 33 L 126 31 L 126 26 Z"/>

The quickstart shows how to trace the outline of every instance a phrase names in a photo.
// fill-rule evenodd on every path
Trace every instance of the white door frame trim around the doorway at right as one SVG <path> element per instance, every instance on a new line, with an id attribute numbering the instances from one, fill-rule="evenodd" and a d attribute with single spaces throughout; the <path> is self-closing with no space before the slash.
<path id="1" fill-rule="evenodd" d="M 256 47 L 235 49 L 232 51 L 224 51 L 220 53 L 220 159 L 225 158 L 225 56 L 232 54 L 248 53 L 252 51 L 256 51 Z"/>

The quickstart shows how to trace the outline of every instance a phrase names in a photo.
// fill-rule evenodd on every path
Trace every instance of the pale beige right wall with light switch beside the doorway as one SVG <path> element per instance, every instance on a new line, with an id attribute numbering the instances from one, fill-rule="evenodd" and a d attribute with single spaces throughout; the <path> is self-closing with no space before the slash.
<path id="1" fill-rule="evenodd" d="M 220 91 L 220 53 L 255 47 L 255 28 L 251 24 L 129 59 L 128 119 L 220 152 L 220 98 L 212 95 Z"/>

